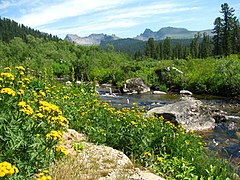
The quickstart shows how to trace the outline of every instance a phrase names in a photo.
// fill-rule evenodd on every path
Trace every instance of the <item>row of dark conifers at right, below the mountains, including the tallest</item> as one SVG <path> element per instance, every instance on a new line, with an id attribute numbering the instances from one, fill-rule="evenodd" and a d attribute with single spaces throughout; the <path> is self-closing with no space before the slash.
<path id="1" fill-rule="evenodd" d="M 146 56 L 153 59 L 194 59 L 219 57 L 240 53 L 240 23 L 234 14 L 235 10 L 227 3 L 221 5 L 223 17 L 217 17 L 214 21 L 213 37 L 196 34 L 190 44 L 172 44 L 171 38 L 163 41 L 154 41 L 149 38 L 146 42 L 144 53 L 135 53 L 135 57 Z"/>

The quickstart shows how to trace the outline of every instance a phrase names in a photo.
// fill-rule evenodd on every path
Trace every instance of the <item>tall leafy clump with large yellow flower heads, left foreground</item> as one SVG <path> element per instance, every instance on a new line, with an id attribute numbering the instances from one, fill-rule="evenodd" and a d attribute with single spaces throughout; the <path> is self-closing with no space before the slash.
<path id="1" fill-rule="evenodd" d="M 68 121 L 49 102 L 52 88 L 24 74 L 22 66 L 0 69 L 0 162 L 15 165 L 18 176 L 28 179 L 66 154 L 60 142 Z"/>

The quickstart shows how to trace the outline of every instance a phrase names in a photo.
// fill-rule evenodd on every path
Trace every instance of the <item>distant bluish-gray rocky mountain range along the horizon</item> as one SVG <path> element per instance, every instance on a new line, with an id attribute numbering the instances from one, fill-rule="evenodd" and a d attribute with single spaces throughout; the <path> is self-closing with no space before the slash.
<path id="1" fill-rule="evenodd" d="M 154 38 L 154 40 L 163 40 L 166 37 L 170 37 L 171 39 L 191 39 L 197 33 L 207 33 L 208 35 L 213 36 L 212 30 L 210 29 L 203 31 L 189 31 L 185 28 L 164 27 L 156 32 L 152 31 L 151 29 L 145 29 L 143 33 L 130 39 L 140 41 L 147 41 L 149 38 Z M 122 38 L 117 37 L 116 35 L 107 35 L 103 33 L 91 34 L 87 37 L 79 37 L 76 34 L 67 34 L 65 37 L 65 40 L 74 42 L 78 45 L 100 45 L 102 42 L 110 42 L 119 39 Z"/>

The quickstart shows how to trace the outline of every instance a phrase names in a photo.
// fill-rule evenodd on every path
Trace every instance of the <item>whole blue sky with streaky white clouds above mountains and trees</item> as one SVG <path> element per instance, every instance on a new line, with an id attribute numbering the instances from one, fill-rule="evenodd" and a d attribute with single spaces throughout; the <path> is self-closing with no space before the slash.
<path id="1" fill-rule="evenodd" d="M 0 16 L 61 38 L 92 33 L 126 38 L 146 28 L 212 29 L 223 3 L 240 17 L 239 0 L 0 0 Z"/>

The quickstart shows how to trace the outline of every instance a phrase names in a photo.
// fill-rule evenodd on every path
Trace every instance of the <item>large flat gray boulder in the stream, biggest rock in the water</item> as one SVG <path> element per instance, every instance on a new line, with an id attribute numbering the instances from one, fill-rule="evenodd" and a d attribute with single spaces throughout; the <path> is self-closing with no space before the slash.
<path id="1" fill-rule="evenodd" d="M 153 113 L 174 124 L 181 124 L 187 130 L 195 131 L 213 129 L 216 123 L 227 120 L 225 112 L 204 105 L 200 100 L 191 97 L 183 97 L 181 101 L 155 107 L 147 112 L 148 115 Z"/>

